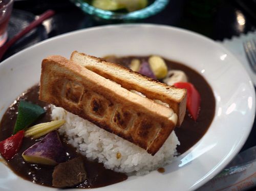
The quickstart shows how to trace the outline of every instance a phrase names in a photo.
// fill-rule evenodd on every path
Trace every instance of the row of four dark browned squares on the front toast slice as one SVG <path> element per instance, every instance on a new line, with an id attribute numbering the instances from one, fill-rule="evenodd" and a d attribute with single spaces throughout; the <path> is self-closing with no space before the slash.
<path id="1" fill-rule="evenodd" d="M 77 82 L 63 81 L 63 89 L 65 89 L 65 95 L 63 97 L 67 102 L 79 104 L 82 98 L 84 111 L 94 120 L 104 122 L 110 118 L 110 121 L 115 126 L 115 132 L 126 132 L 129 134 L 130 131 L 134 131 L 135 137 L 140 137 L 141 139 L 136 140 L 136 138 L 134 139 L 130 135 L 129 139 L 136 140 L 137 144 L 142 148 L 147 148 L 161 130 L 161 125 L 157 122 L 152 122 L 148 117 L 144 117 L 144 113 L 138 112 L 137 114 L 133 114 L 120 104 L 114 106 L 108 99 L 96 92 L 86 93 L 83 91 L 82 85 Z M 84 104 L 84 102 L 87 103 Z M 113 115 L 108 117 L 108 113 L 111 114 L 110 112 L 112 111 L 114 111 Z M 137 128 L 132 130 L 133 127 Z"/>

